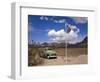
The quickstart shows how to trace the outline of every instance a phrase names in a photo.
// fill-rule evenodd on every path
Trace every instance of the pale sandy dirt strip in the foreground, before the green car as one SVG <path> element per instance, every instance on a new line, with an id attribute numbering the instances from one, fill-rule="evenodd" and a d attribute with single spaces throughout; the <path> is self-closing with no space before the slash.
<path id="1" fill-rule="evenodd" d="M 42 65 L 87 64 L 87 59 L 87 55 L 70 56 L 67 58 L 65 56 L 57 56 L 57 59 L 44 59 Z"/>

